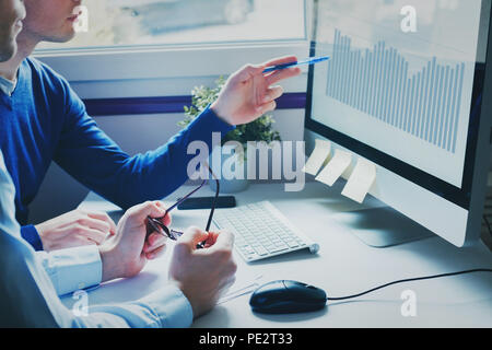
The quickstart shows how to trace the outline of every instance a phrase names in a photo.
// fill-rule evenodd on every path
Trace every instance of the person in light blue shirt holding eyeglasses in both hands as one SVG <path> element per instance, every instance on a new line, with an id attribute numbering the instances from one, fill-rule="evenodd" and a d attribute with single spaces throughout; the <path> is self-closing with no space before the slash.
<path id="1" fill-rule="evenodd" d="M 227 232 L 189 229 L 175 246 L 168 284 L 131 303 L 92 306 L 86 316 L 80 316 L 61 303 L 33 247 L 21 237 L 14 217 L 14 191 L 0 151 L 0 327 L 183 328 L 210 311 L 234 281 L 233 236 Z M 155 202 L 128 210 L 106 248 L 131 257 L 132 267 L 138 269 L 143 259 L 138 248 L 143 243 L 138 245 L 133 237 L 143 242 L 145 218 L 160 212 L 162 208 Z M 204 240 L 208 247 L 196 250 L 197 244 Z M 119 266 L 118 259 L 110 265 Z M 133 272 L 130 269 L 122 273 Z"/>

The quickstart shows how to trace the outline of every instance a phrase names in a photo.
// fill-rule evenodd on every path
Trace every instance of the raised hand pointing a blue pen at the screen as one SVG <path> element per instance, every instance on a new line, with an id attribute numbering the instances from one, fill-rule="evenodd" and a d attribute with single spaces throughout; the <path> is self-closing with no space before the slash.
<path id="1" fill-rule="evenodd" d="M 300 68 L 288 68 L 263 74 L 270 66 L 297 61 L 295 56 L 273 59 L 259 66 L 245 66 L 232 74 L 212 110 L 230 125 L 243 125 L 254 121 L 277 107 L 276 100 L 283 94 L 281 86 L 272 86 L 281 80 L 298 75 Z"/>

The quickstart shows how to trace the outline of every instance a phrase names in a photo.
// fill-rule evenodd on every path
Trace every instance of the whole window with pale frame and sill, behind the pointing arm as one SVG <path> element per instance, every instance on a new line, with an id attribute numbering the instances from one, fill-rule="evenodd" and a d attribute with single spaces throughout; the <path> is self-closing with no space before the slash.
<path id="1" fill-rule="evenodd" d="M 35 56 L 83 98 L 188 95 L 245 63 L 309 55 L 312 0 L 83 0 L 79 33 Z M 304 92 L 307 74 L 289 81 Z"/>

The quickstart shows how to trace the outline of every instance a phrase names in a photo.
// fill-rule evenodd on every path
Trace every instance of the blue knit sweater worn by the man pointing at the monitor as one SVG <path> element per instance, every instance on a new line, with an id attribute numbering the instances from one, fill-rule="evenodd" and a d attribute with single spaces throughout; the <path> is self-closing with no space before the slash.
<path id="1" fill-rule="evenodd" d="M 233 129 L 209 108 L 166 144 L 129 156 L 87 115 L 68 82 L 33 58 L 23 61 L 12 96 L 0 92 L 0 149 L 15 185 L 16 219 L 27 223 L 33 201 L 55 161 L 80 183 L 128 209 L 172 194 L 187 178 L 187 147 L 202 140 L 212 147 L 212 132 Z M 136 137 L 144 137 L 136 135 Z M 33 225 L 22 235 L 36 249 L 42 242 Z"/>

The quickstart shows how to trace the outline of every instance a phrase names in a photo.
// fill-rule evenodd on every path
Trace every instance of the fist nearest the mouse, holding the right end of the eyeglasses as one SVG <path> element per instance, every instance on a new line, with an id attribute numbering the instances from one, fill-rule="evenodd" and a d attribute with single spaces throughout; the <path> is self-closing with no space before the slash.
<path id="1" fill-rule="evenodd" d="M 196 249 L 206 241 L 206 248 Z M 186 295 L 199 317 L 210 311 L 234 283 L 237 266 L 232 259 L 234 236 L 229 232 L 207 233 L 188 229 L 174 247 L 169 279 Z"/>

